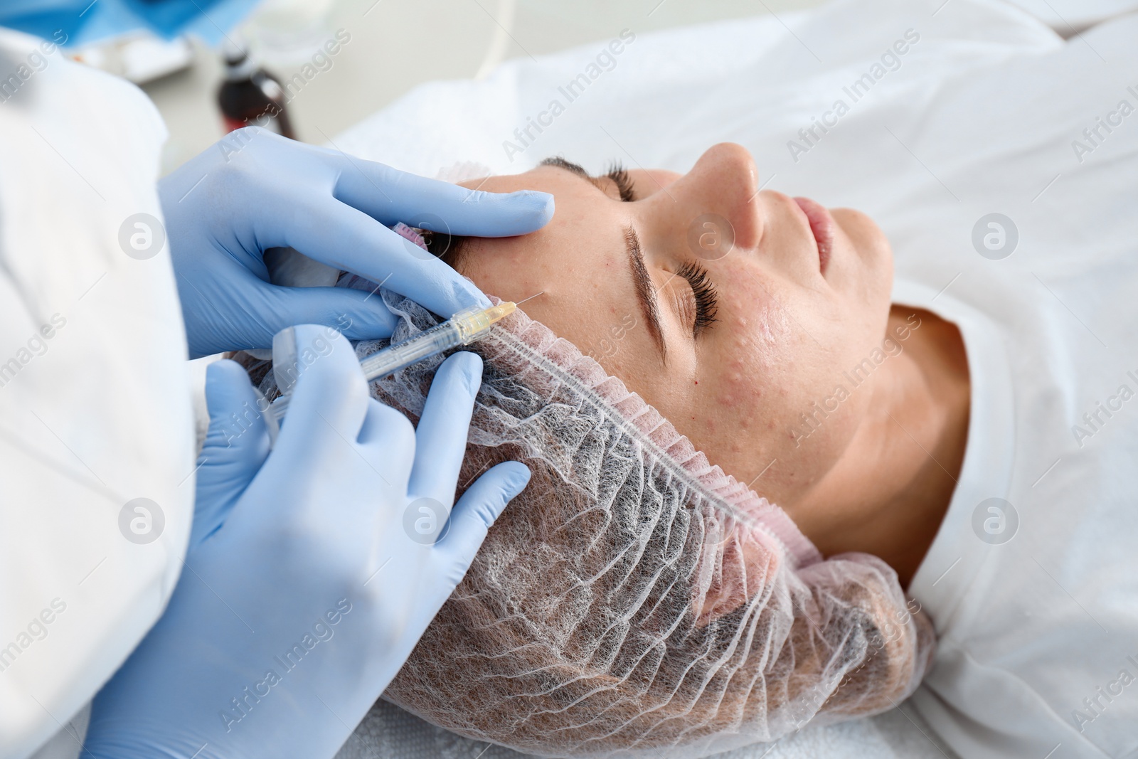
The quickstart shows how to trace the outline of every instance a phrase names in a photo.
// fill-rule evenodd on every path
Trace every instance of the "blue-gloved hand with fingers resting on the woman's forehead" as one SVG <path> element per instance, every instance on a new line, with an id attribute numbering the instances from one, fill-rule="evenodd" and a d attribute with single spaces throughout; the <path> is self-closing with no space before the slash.
<path id="1" fill-rule="evenodd" d="M 442 261 L 388 226 L 508 237 L 545 225 L 553 196 L 467 190 L 247 126 L 158 183 L 190 357 L 269 348 L 291 324 L 388 337 L 382 299 L 345 288 L 269 281 L 264 253 L 292 247 L 450 319 L 489 302 Z"/>

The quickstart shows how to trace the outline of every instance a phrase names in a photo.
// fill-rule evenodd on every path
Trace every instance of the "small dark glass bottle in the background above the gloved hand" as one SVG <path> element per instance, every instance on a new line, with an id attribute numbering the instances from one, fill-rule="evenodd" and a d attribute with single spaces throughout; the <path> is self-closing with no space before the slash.
<path id="1" fill-rule="evenodd" d="M 225 81 L 217 90 L 217 105 L 225 131 L 257 125 L 295 140 L 281 83 L 238 46 L 226 43 L 224 55 Z"/>

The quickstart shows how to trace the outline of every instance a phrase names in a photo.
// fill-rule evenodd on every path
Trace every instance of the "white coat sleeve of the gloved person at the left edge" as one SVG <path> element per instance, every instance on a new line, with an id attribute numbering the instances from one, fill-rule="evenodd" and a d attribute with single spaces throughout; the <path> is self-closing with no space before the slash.
<path id="1" fill-rule="evenodd" d="M 133 85 L 0 30 L 2 757 L 91 699 L 182 568 L 184 330 L 168 244 L 135 217 L 162 218 L 165 137 Z"/>

